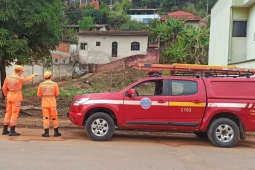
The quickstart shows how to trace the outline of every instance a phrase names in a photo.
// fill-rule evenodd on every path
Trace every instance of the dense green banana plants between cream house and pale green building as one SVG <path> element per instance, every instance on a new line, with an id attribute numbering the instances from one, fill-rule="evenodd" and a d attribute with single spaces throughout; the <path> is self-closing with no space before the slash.
<path id="1" fill-rule="evenodd" d="M 207 64 L 209 26 L 184 26 L 184 21 L 153 21 L 151 37 L 160 41 L 161 63 Z"/>

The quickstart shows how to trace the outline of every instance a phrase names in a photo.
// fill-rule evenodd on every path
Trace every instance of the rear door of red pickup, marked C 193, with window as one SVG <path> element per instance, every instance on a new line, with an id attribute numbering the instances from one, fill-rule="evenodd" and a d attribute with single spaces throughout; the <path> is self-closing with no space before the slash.
<path id="1" fill-rule="evenodd" d="M 197 127 L 206 106 L 206 90 L 202 79 L 169 80 L 169 125 Z"/>

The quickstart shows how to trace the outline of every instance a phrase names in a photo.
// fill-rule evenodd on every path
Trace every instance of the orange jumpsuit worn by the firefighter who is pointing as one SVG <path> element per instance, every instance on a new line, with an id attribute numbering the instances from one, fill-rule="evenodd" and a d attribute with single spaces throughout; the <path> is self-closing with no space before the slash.
<path id="1" fill-rule="evenodd" d="M 23 100 L 22 85 L 23 83 L 32 80 L 34 77 L 35 74 L 28 77 L 23 77 L 16 73 L 6 77 L 2 88 L 4 96 L 7 98 L 4 125 L 17 125 L 21 101 Z"/>

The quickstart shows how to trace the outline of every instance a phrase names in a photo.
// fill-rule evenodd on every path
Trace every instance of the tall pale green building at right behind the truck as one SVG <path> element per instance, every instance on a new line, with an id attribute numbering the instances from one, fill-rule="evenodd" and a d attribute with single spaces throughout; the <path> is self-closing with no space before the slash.
<path id="1" fill-rule="evenodd" d="M 209 64 L 255 67 L 255 0 L 218 0 L 212 8 Z"/>

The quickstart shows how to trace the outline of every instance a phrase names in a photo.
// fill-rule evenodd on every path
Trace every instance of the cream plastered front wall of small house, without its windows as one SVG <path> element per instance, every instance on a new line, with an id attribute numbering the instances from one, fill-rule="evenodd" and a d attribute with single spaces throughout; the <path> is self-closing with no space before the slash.
<path id="1" fill-rule="evenodd" d="M 112 42 L 118 42 L 118 55 L 112 57 Z M 88 50 L 79 50 L 81 63 L 106 64 L 132 55 L 146 55 L 148 36 L 111 36 L 111 35 L 80 35 L 80 43 L 86 42 Z M 100 42 L 100 46 L 96 46 Z M 131 43 L 139 42 L 140 51 L 131 51 Z"/>

